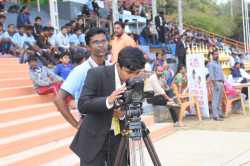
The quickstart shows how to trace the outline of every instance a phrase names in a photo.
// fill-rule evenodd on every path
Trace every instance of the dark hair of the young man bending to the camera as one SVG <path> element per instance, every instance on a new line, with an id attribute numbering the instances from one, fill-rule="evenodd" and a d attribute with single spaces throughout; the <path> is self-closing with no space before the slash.
<path id="1" fill-rule="evenodd" d="M 118 54 L 120 67 L 126 67 L 131 71 L 144 69 L 146 60 L 142 51 L 137 47 L 125 47 Z"/>

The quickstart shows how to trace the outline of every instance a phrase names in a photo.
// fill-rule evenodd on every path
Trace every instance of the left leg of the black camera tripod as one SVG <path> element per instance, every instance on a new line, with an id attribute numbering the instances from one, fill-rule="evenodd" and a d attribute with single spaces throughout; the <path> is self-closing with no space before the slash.
<path id="1" fill-rule="evenodd" d="M 123 136 L 120 142 L 117 155 L 116 155 L 114 166 L 121 166 L 127 143 L 128 143 L 128 136 Z"/>

